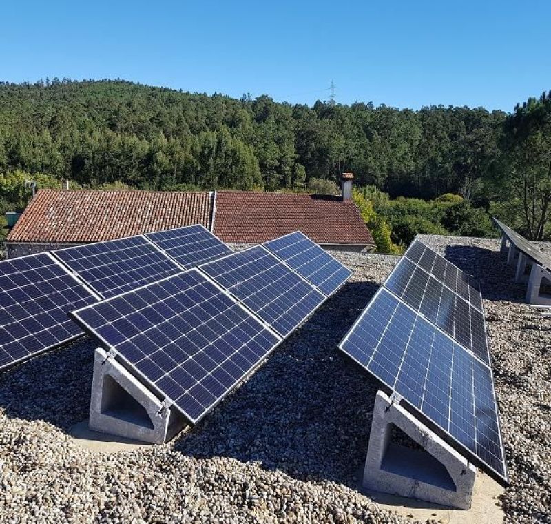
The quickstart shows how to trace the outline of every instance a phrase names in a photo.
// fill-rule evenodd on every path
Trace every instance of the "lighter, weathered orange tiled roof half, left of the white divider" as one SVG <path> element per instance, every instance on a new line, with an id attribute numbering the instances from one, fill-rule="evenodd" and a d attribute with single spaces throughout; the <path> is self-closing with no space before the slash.
<path id="1" fill-rule="evenodd" d="M 37 192 L 8 242 L 85 243 L 201 223 L 208 192 L 49 190 Z"/>

